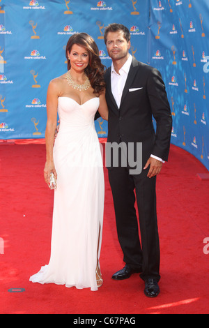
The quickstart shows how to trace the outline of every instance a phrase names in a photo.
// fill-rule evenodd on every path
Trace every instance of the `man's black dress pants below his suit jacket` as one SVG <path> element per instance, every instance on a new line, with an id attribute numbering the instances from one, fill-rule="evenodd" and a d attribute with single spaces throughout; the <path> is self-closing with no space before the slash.
<path id="1" fill-rule="evenodd" d="M 111 167 L 108 171 L 123 260 L 134 269 L 142 268 L 140 276 L 144 281 L 147 278 L 160 281 L 156 177 L 148 178 L 148 169 L 137 175 L 131 175 L 127 167 Z M 141 240 L 135 209 L 136 197 Z"/>

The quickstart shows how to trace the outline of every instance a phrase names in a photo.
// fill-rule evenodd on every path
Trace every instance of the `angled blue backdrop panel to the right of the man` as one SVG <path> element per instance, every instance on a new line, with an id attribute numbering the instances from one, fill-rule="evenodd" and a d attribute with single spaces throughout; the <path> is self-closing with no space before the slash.
<path id="1" fill-rule="evenodd" d="M 173 116 L 171 142 L 209 168 L 209 1 L 150 1 L 148 62 L 162 73 Z"/>

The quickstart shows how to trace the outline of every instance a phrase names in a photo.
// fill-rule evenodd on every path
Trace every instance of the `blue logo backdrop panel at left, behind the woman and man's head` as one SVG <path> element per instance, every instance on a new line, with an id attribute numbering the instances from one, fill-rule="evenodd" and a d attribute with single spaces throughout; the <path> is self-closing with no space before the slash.
<path id="1" fill-rule="evenodd" d="M 67 70 L 65 45 L 73 33 L 91 34 L 103 64 L 109 67 L 104 27 L 124 22 L 132 33 L 132 54 L 139 53 L 140 45 L 144 49 L 141 61 L 147 59 L 148 4 L 2 0 L 0 6 L 1 139 L 45 136 L 47 87 L 50 80 Z M 95 127 L 99 137 L 107 137 L 106 121 L 98 119 Z"/>

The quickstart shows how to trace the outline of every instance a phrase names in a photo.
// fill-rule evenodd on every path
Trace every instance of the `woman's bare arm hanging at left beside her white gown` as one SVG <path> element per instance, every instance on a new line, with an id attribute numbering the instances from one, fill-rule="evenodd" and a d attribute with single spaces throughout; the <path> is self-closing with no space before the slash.
<path id="1" fill-rule="evenodd" d="M 53 172 L 55 178 L 57 177 L 54 167 L 53 147 L 54 147 L 54 133 L 56 131 L 57 121 L 57 106 L 58 106 L 58 91 L 57 80 L 52 80 L 49 83 L 47 91 L 47 126 L 45 131 L 46 142 L 46 163 L 44 169 L 45 182 L 49 184 L 50 173 Z"/>

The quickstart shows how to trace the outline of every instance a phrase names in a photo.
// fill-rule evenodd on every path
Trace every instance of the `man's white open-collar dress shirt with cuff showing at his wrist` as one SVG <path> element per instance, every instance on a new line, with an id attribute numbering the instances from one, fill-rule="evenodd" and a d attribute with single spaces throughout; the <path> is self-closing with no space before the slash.
<path id="1" fill-rule="evenodd" d="M 118 109 L 121 106 L 121 97 L 123 94 L 123 89 L 125 87 L 125 82 L 127 80 L 127 75 L 130 70 L 130 66 L 132 64 L 132 55 L 129 54 L 129 57 L 123 67 L 119 70 L 119 74 L 116 73 L 116 70 L 114 68 L 114 64 L 111 64 L 111 92 L 116 100 L 116 104 L 118 105 Z M 158 161 L 162 161 L 162 158 L 159 158 L 155 155 L 151 155 L 151 157 L 157 159 Z"/>

